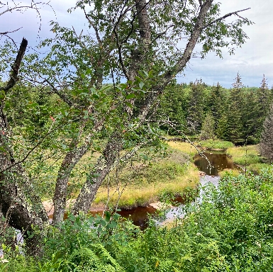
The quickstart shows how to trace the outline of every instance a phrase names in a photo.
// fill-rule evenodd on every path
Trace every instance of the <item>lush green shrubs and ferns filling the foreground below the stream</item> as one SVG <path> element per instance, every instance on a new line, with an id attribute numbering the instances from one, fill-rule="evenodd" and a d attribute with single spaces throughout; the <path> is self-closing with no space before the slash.
<path id="1" fill-rule="evenodd" d="M 48 229 L 43 257 L 4 250 L 0 271 L 272 271 L 273 168 L 225 176 L 172 227 L 144 232 L 118 215 L 70 215 Z"/>

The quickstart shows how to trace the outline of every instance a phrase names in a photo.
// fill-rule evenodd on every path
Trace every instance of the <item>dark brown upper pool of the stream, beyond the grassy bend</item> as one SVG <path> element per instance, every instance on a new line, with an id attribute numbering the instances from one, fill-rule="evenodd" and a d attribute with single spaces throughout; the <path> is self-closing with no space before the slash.
<path id="1" fill-rule="evenodd" d="M 233 163 L 225 152 L 208 151 L 203 154 L 207 159 L 198 154 L 194 157 L 194 164 L 208 176 L 218 176 L 218 172 L 223 171 L 223 169 L 238 169 L 238 166 Z"/>

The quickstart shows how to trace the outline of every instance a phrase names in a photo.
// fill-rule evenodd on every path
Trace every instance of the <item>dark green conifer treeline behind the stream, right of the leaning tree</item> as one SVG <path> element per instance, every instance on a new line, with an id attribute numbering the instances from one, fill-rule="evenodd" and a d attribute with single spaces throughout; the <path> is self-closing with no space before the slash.
<path id="1" fill-rule="evenodd" d="M 200 80 L 169 87 L 157 118 L 172 121 L 176 129 L 162 126 L 171 135 L 180 130 L 201 139 L 218 137 L 251 144 L 260 140 L 272 99 L 273 89 L 269 89 L 264 77 L 260 88 L 243 86 L 240 74 L 232 89 L 225 89 L 219 83 L 208 86 Z"/>

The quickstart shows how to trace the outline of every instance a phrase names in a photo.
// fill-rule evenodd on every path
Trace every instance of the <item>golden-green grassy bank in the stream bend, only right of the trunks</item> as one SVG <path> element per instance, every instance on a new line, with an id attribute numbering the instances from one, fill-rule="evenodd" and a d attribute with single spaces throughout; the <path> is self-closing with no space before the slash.
<path id="1" fill-rule="evenodd" d="M 187 152 L 181 152 L 180 149 L 184 151 L 186 149 Z M 124 169 L 118 177 L 116 186 L 110 188 L 104 186 L 100 189 L 94 205 L 105 204 L 108 201 L 108 205 L 115 206 L 119 199 L 118 207 L 132 208 L 194 191 L 199 181 L 199 171 L 191 160 L 193 149 L 184 142 L 171 142 L 168 152 L 167 158 L 150 166 Z M 114 179 L 114 176 L 110 179 Z"/>

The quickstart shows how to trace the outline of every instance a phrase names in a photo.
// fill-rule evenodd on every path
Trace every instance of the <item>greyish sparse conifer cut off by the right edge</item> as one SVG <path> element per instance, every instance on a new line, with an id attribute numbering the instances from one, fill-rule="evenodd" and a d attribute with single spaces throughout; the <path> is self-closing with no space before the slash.
<path id="1" fill-rule="evenodd" d="M 259 149 L 263 157 L 267 158 L 269 162 L 273 162 L 273 104 L 264 120 Z"/>

